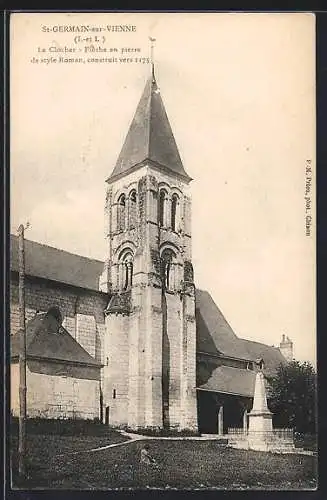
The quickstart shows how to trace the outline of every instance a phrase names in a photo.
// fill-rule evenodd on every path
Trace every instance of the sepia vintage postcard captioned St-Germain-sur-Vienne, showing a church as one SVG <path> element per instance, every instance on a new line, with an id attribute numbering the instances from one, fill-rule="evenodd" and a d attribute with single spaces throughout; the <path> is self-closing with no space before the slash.
<path id="1" fill-rule="evenodd" d="M 11 488 L 317 488 L 315 168 L 313 14 L 11 15 Z"/>

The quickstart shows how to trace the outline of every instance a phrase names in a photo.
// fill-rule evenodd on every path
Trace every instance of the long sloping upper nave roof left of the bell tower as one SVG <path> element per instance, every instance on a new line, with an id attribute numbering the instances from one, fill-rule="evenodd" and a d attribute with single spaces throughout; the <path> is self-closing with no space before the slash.
<path id="1" fill-rule="evenodd" d="M 18 271 L 18 237 L 10 235 L 10 268 Z M 103 262 L 25 239 L 25 273 L 89 290 L 99 290 Z"/>

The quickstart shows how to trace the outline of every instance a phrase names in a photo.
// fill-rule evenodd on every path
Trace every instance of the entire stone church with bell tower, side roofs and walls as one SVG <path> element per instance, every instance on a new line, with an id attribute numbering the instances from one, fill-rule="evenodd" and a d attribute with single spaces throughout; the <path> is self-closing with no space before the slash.
<path id="1" fill-rule="evenodd" d="M 288 337 L 279 348 L 239 338 L 196 289 L 191 181 L 152 67 L 106 180 L 105 262 L 25 241 L 29 416 L 224 433 L 245 425 L 256 371 L 292 359 Z M 18 335 L 12 236 L 13 414 Z"/>

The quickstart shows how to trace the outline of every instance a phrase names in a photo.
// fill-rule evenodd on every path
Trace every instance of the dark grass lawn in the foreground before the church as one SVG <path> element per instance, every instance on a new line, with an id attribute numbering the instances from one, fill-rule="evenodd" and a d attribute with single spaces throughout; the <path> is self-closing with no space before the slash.
<path id="1" fill-rule="evenodd" d="M 144 444 L 66 454 L 124 440 L 115 431 L 99 436 L 28 436 L 30 478 L 17 482 L 17 437 L 12 438 L 13 487 L 26 489 L 220 488 L 296 490 L 316 487 L 317 458 L 235 450 L 214 441 L 147 441 L 158 470 L 141 464 Z"/>

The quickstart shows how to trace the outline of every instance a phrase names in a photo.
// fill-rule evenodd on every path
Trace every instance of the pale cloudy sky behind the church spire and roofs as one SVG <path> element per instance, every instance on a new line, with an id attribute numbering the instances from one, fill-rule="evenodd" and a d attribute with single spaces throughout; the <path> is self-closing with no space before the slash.
<path id="1" fill-rule="evenodd" d="M 58 32 L 81 24 L 103 31 Z M 142 62 L 149 36 L 156 38 L 161 96 L 194 179 L 197 287 L 212 294 L 238 336 L 278 345 L 288 335 L 295 357 L 315 364 L 312 14 L 14 14 L 11 232 L 29 221 L 28 239 L 105 258 L 105 179 L 150 73 Z M 118 53 L 85 53 L 91 44 Z M 58 52 L 65 47 L 76 56 Z M 117 62 L 87 62 L 113 54 Z M 59 55 L 85 63 L 60 63 Z M 57 62 L 41 62 L 50 57 Z M 313 172 L 308 212 L 306 160 Z"/>

